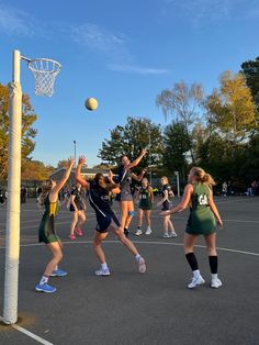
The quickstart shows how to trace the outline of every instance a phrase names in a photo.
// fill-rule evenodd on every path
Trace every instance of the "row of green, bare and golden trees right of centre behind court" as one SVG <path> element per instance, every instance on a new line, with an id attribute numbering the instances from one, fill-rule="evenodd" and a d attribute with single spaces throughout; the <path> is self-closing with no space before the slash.
<path id="1" fill-rule="evenodd" d="M 160 175 L 179 171 L 185 181 L 190 167 L 201 166 L 219 183 L 245 190 L 259 179 L 259 57 L 238 74 L 224 71 L 209 96 L 200 84 L 179 81 L 164 89 L 156 104 L 170 124 L 128 116 L 125 126 L 110 131 L 99 157 L 117 164 L 121 155 L 133 159 L 150 144 L 139 168 L 156 165 Z"/>

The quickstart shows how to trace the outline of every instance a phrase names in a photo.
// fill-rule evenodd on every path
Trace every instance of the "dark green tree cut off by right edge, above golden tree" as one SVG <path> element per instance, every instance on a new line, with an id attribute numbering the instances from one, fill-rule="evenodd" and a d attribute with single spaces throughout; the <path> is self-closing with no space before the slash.
<path id="1" fill-rule="evenodd" d="M 259 111 L 259 56 L 255 60 L 241 64 L 241 73 L 245 75 L 247 86 Z"/>

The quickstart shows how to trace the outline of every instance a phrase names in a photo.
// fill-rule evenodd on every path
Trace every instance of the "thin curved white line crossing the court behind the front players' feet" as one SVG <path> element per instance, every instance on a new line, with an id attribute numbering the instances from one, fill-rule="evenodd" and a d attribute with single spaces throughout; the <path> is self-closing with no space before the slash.
<path id="1" fill-rule="evenodd" d="M 183 243 L 172 243 L 172 242 L 158 242 L 158 241 L 132 241 L 134 244 L 161 244 L 161 245 L 169 245 L 169 246 L 183 246 Z M 121 244 L 120 241 L 104 241 L 103 244 L 111 243 L 111 244 Z M 63 244 L 92 244 L 92 241 L 78 241 L 78 242 L 63 242 Z M 21 244 L 21 247 L 35 247 L 35 246 L 42 246 L 44 244 L 42 243 L 27 243 L 27 244 Z M 198 248 L 206 248 L 204 245 L 196 244 L 195 247 Z M 5 247 L 0 247 L 0 249 L 4 249 Z M 238 253 L 238 254 L 245 254 L 245 255 L 251 255 L 251 256 L 259 256 L 259 253 L 254 252 L 247 252 L 247 251 L 239 251 L 239 249 L 232 249 L 232 248 L 224 248 L 224 247 L 216 247 L 217 251 L 222 252 L 229 252 L 229 253 Z"/>

